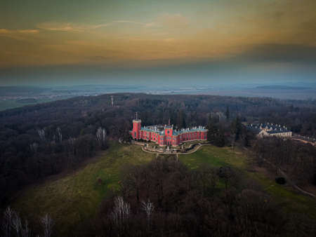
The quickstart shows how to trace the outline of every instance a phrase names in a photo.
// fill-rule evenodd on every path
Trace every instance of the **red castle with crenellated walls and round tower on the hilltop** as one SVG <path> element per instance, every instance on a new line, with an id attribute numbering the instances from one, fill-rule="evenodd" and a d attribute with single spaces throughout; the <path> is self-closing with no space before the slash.
<path id="1" fill-rule="evenodd" d="M 134 140 L 156 142 L 159 146 L 176 147 L 183 142 L 206 140 L 207 129 L 199 126 L 194 128 L 173 129 L 173 125 L 141 126 L 140 119 L 133 119 L 133 130 L 130 131 Z"/>

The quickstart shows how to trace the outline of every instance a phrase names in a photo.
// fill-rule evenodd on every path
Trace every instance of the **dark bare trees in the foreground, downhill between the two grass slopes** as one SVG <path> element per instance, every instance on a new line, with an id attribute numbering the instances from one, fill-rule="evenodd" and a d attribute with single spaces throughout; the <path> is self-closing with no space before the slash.
<path id="1" fill-rule="evenodd" d="M 174 157 L 125 170 L 106 198 L 95 236 L 314 236 L 315 223 L 284 215 L 230 167 L 188 169 Z M 305 224 L 301 224 L 305 222 Z"/>

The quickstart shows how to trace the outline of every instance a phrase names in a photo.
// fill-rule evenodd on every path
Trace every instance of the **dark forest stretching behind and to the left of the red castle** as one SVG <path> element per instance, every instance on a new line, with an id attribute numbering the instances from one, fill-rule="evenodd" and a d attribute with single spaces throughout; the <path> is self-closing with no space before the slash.
<path id="1" fill-rule="evenodd" d="M 100 95 L 1 111 L 0 201 L 5 203 L 12 191 L 25 184 L 75 167 L 99 149 L 106 149 L 106 140 L 120 137 L 128 141 L 136 111 L 143 126 L 167 124 L 169 118 L 176 128 L 209 125 L 209 137 L 219 146 L 249 143 L 249 135 L 239 126 L 243 121 L 265 118 L 302 135 L 315 135 L 316 130 L 312 101 L 211 95 L 113 96 L 114 107 L 111 95 Z M 106 138 L 100 144 L 103 135 Z"/>

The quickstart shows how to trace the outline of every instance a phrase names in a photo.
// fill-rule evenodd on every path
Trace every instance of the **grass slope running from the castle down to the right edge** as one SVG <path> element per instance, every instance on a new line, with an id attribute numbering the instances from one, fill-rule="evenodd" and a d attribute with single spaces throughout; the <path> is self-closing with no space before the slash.
<path id="1" fill-rule="evenodd" d="M 200 165 L 208 164 L 211 166 L 230 165 L 241 170 L 246 177 L 256 180 L 268 194 L 280 203 L 284 210 L 289 212 L 300 212 L 308 214 L 316 219 L 316 199 L 303 196 L 288 185 L 275 183 L 270 177 L 262 172 L 250 172 L 246 169 L 246 157 L 242 152 L 232 151 L 229 147 L 219 148 L 204 146 L 199 151 L 190 155 L 182 155 L 180 161 L 187 164 L 190 168 L 197 168 Z"/>

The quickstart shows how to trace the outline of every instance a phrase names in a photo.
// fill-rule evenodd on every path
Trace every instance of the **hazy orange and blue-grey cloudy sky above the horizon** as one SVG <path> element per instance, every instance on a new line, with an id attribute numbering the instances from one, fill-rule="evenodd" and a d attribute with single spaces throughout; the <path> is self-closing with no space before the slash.
<path id="1" fill-rule="evenodd" d="M 316 83 L 315 0 L 0 1 L 0 86 Z"/>

